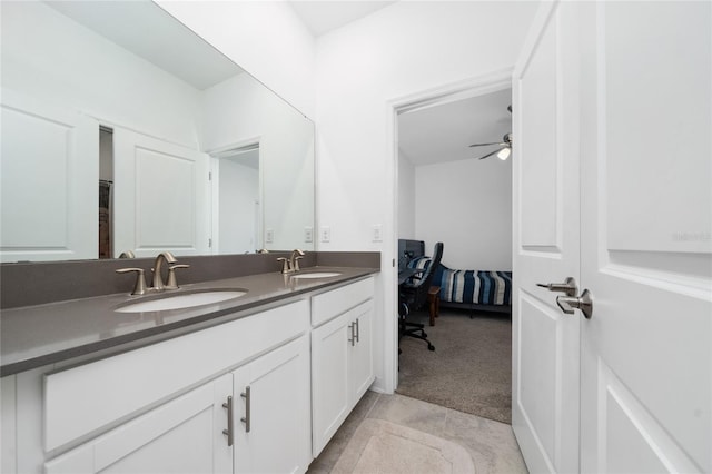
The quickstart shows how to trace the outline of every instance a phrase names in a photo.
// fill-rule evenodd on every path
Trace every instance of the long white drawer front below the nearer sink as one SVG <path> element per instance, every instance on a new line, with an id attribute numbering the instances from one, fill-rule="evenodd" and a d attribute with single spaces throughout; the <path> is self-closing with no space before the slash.
<path id="1" fill-rule="evenodd" d="M 44 377 L 44 448 L 128 418 L 200 381 L 304 333 L 296 302 Z"/>

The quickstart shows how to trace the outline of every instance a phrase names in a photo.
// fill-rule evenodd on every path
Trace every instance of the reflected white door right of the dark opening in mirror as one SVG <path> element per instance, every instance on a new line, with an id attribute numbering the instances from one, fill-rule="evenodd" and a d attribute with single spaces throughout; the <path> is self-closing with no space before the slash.
<path id="1" fill-rule="evenodd" d="M 121 128 L 113 147 L 115 257 L 207 254 L 208 156 Z"/>

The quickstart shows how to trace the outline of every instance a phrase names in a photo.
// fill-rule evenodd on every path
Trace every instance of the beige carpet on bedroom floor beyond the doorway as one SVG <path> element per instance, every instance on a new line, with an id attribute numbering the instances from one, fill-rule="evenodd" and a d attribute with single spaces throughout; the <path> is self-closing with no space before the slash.
<path id="1" fill-rule="evenodd" d="M 413 316 L 413 315 L 412 315 Z M 441 308 L 425 332 L 435 346 L 400 339 L 397 392 L 502 423 L 512 423 L 512 322 L 508 315 Z"/>

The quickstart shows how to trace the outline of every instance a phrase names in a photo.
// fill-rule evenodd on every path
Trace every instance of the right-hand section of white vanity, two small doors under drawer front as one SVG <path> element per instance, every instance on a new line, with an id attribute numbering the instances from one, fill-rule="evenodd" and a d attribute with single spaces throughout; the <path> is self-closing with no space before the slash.
<path id="1" fill-rule="evenodd" d="M 374 382 L 374 280 L 312 298 L 312 436 L 314 456 Z"/>

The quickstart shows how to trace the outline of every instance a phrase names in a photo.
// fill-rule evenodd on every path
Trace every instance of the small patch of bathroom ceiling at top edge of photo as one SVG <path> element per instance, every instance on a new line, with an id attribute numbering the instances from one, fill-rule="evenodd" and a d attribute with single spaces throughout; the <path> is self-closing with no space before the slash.
<path id="1" fill-rule="evenodd" d="M 392 3 L 395 1 L 289 1 L 294 11 L 315 38 Z"/>

